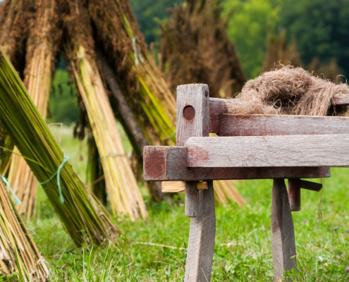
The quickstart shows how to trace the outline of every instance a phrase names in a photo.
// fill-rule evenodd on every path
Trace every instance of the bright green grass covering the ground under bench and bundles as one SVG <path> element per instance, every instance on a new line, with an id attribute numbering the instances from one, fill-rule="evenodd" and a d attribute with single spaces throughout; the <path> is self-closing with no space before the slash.
<path id="1" fill-rule="evenodd" d="M 71 128 L 60 133 L 53 127 L 83 174 L 85 143 L 71 140 Z M 332 169 L 323 183 L 322 192 L 303 190 L 302 209 L 293 213 L 299 270 L 286 275 L 297 281 L 349 281 L 348 169 Z M 272 281 L 271 185 L 271 180 L 236 183 L 248 204 L 216 208 L 212 281 Z M 115 245 L 76 248 L 40 190 L 39 213 L 29 228 L 47 258 L 51 281 L 183 281 L 190 220 L 183 202 L 174 200 L 170 206 L 146 198 L 147 221 L 115 219 L 123 233 Z"/>

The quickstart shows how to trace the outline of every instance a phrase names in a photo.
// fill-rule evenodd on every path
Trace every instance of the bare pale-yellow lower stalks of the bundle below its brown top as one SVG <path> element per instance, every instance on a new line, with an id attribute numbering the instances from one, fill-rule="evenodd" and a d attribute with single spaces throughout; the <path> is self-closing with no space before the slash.
<path id="1" fill-rule="evenodd" d="M 80 46 L 70 55 L 78 90 L 85 104 L 94 140 L 102 159 L 106 192 L 113 212 L 145 218 L 147 209 L 125 155 L 108 95 L 94 61 Z"/>

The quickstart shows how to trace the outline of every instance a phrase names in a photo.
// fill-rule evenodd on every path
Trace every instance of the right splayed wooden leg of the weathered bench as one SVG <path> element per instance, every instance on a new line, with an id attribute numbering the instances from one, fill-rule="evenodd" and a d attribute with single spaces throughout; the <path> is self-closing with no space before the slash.
<path id="1" fill-rule="evenodd" d="M 297 268 L 295 230 L 284 179 L 274 179 L 271 202 L 271 245 L 273 249 L 274 280 L 283 277 L 284 270 Z"/>

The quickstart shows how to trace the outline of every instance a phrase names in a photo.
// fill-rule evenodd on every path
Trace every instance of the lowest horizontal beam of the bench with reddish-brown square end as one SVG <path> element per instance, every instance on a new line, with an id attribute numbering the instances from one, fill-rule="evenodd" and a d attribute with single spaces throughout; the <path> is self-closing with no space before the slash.
<path id="1" fill-rule="evenodd" d="M 143 161 L 145 180 L 195 181 L 331 176 L 330 169 L 326 167 L 188 168 L 187 147 L 180 146 L 147 146 Z"/>

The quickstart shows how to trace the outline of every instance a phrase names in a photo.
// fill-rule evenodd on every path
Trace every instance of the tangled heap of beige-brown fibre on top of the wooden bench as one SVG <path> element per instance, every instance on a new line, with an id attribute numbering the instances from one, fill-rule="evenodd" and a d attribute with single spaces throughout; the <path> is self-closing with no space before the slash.
<path id="1" fill-rule="evenodd" d="M 348 94 L 349 87 L 316 77 L 303 68 L 283 68 L 249 80 L 229 106 L 232 114 L 293 114 L 325 116 L 334 94 Z"/>

